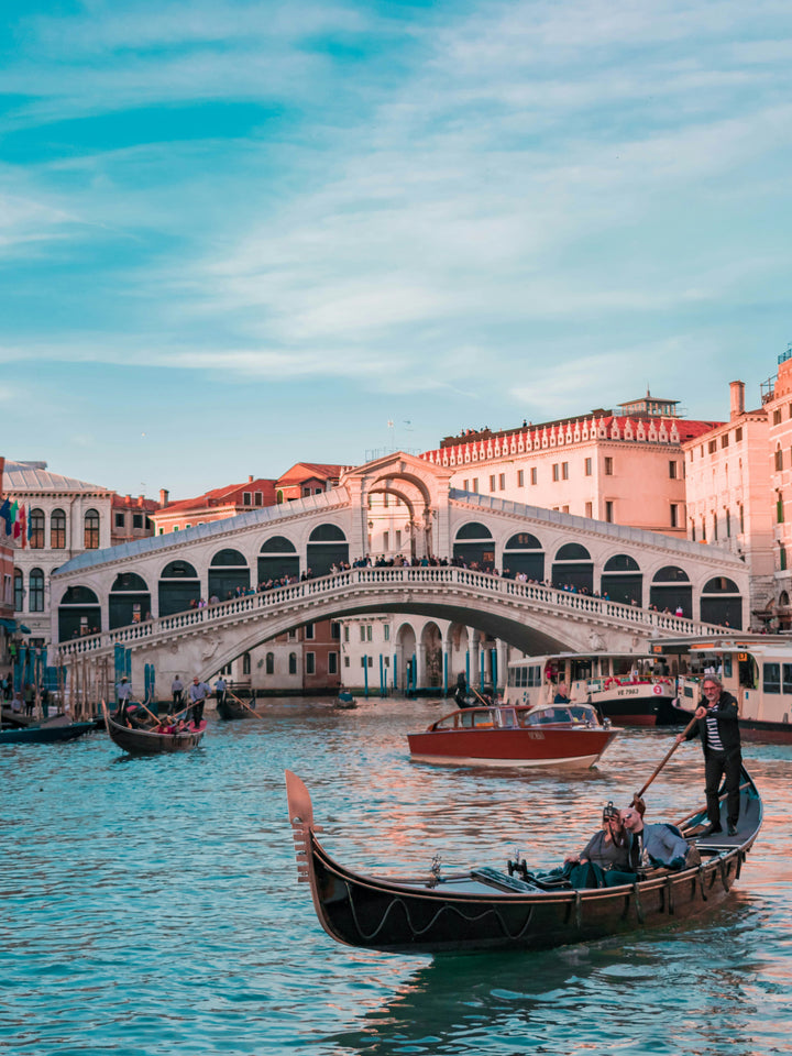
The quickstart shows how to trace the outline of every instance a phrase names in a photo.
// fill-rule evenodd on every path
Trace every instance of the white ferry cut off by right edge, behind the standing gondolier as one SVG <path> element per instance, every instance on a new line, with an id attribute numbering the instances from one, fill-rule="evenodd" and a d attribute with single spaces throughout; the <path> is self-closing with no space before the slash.
<path id="1" fill-rule="evenodd" d="M 676 710 L 688 722 L 704 678 L 717 674 L 739 706 L 743 738 L 792 744 L 792 641 L 771 635 L 656 642 L 679 670 Z"/>

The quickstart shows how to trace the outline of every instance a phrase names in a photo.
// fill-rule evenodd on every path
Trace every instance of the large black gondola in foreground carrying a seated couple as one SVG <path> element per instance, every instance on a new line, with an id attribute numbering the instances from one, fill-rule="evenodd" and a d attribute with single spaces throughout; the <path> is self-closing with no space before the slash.
<path id="1" fill-rule="evenodd" d="M 393 953 L 549 949 L 684 921 L 712 911 L 740 878 L 762 821 L 756 785 L 743 771 L 737 836 L 696 836 L 700 809 L 679 823 L 701 864 L 678 872 L 653 869 L 634 883 L 575 890 L 525 862 L 443 877 L 360 875 L 336 862 L 316 836 L 310 794 L 286 771 L 289 820 L 300 881 L 310 884 L 324 931 L 339 943 Z M 690 856 L 689 856 L 690 859 Z"/>

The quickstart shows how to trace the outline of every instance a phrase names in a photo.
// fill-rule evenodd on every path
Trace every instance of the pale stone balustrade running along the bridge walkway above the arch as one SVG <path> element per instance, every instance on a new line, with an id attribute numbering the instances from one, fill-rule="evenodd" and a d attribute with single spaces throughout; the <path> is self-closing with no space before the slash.
<path id="1" fill-rule="evenodd" d="M 693 637 L 698 635 L 723 634 L 724 628 L 700 620 L 685 619 L 653 609 L 639 608 L 636 605 L 623 605 L 604 597 L 588 594 L 573 594 L 559 591 L 541 583 L 522 583 L 504 579 L 486 572 L 453 566 L 428 568 L 364 568 L 350 569 L 312 580 L 302 580 L 288 586 L 271 591 L 246 594 L 217 605 L 204 608 L 190 608 L 173 616 L 162 616 L 146 623 L 118 627 L 100 635 L 90 635 L 73 641 L 62 642 L 57 648 L 62 662 L 85 654 L 105 653 L 116 645 L 133 646 L 147 640 L 161 642 L 196 634 L 212 627 L 237 623 L 252 615 L 284 615 L 295 610 L 295 625 L 306 622 L 309 604 L 318 598 L 348 595 L 359 597 L 361 593 L 382 598 L 383 612 L 387 612 L 388 598 L 395 593 L 417 588 L 421 593 L 448 594 L 449 588 L 457 595 L 466 595 L 472 613 L 476 597 L 508 600 L 513 608 L 515 602 L 521 602 L 527 612 L 547 612 L 556 614 L 575 614 L 578 618 L 588 618 L 592 623 L 609 624 L 623 628 L 635 628 L 640 634 L 666 637 Z M 343 606 L 339 607 L 339 618 L 343 617 Z M 474 624 L 475 619 L 471 619 Z"/>

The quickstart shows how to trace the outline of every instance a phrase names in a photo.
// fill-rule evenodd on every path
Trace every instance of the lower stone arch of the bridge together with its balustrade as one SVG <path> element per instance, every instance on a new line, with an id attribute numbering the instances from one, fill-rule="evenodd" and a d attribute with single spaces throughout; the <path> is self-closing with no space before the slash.
<path id="1" fill-rule="evenodd" d="M 118 644 L 131 650 L 139 682 L 147 662 L 154 663 L 163 685 L 185 670 L 208 679 L 243 652 L 300 624 L 382 612 L 474 622 L 529 654 L 606 648 L 632 652 L 644 650 L 651 638 L 719 629 L 468 569 L 362 568 L 77 638 L 61 645 L 61 661 L 69 666 L 80 659 L 109 659 Z"/>

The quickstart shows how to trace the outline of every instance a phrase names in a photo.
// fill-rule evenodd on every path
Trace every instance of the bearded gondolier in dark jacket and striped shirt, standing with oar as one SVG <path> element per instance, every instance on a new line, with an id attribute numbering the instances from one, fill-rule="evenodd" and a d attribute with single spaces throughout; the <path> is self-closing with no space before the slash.
<path id="1" fill-rule="evenodd" d="M 704 780 L 710 825 L 702 835 L 722 833 L 718 785 L 725 777 L 728 835 L 737 835 L 739 817 L 739 780 L 743 754 L 738 725 L 737 701 L 723 688 L 716 674 L 704 675 L 703 697 L 695 710 L 695 726 L 688 734 L 678 734 L 676 744 L 701 737 L 704 749 Z"/>

